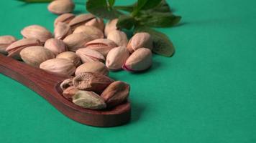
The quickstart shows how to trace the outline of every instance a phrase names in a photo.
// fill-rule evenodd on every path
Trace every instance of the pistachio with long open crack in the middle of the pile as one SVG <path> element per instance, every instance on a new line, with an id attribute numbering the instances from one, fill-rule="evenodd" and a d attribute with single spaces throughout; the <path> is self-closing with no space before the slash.
<path id="1" fill-rule="evenodd" d="M 114 41 L 109 39 L 96 39 L 86 43 L 86 48 L 99 51 L 105 57 L 109 53 L 109 51 L 116 46 L 117 45 L 114 43 Z"/>

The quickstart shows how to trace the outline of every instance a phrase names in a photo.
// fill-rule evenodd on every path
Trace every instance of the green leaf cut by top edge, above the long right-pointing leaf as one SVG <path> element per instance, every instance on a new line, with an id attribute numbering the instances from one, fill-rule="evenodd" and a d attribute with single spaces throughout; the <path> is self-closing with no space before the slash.
<path id="1" fill-rule="evenodd" d="M 138 0 L 137 10 L 152 9 L 160 4 L 162 0 Z"/>

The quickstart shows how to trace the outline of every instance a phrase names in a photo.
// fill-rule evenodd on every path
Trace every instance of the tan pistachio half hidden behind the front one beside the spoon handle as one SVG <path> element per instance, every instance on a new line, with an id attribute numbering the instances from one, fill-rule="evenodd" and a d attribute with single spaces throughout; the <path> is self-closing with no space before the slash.
<path id="1" fill-rule="evenodd" d="M 58 59 L 68 59 L 71 61 L 76 67 L 81 64 L 81 60 L 79 56 L 73 51 L 65 51 L 56 56 Z"/>

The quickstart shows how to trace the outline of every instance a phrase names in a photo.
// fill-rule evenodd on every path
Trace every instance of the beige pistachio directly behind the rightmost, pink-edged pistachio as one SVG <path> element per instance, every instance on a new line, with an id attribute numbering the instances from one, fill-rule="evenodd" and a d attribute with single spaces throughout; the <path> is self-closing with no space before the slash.
<path id="1" fill-rule="evenodd" d="M 146 32 L 140 32 L 132 36 L 132 39 L 129 40 L 127 49 L 130 53 L 136 51 L 139 48 L 153 49 L 153 41 L 150 34 Z"/>

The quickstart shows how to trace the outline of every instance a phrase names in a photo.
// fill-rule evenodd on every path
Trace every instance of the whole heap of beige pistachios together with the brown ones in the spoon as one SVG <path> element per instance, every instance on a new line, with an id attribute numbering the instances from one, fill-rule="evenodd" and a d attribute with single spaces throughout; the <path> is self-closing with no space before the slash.
<path id="1" fill-rule="evenodd" d="M 43 26 L 30 25 L 22 29 L 23 39 L 0 36 L 1 53 L 30 66 L 70 76 L 60 88 L 63 97 L 80 107 L 106 109 L 126 102 L 129 84 L 114 82 L 108 77 L 109 71 L 150 68 L 150 34 L 137 33 L 128 40 L 127 34 L 117 28 L 117 19 L 105 25 L 93 14 L 76 16 L 66 12 L 70 10 L 55 11 L 61 15 L 53 23 L 53 34 Z"/>

